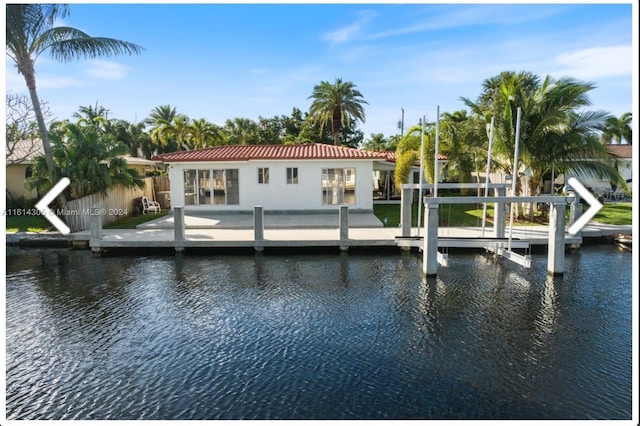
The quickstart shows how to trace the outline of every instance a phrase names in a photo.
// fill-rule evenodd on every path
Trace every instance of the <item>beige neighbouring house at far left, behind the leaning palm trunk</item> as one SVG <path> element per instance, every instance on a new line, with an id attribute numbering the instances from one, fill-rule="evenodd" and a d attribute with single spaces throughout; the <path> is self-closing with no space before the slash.
<path id="1" fill-rule="evenodd" d="M 36 190 L 27 190 L 25 180 L 31 177 L 31 164 L 37 156 L 44 155 L 39 139 L 7 142 L 6 146 L 7 196 L 11 198 L 38 198 Z"/>

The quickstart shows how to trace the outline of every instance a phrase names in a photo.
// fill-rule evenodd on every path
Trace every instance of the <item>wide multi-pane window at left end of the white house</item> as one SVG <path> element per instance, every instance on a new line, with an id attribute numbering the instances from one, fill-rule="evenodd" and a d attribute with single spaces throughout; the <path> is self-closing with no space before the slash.
<path id="1" fill-rule="evenodd" d="M 184 171 L 187 206 L 240 204 L 238 188 L 238 169 Z"/>

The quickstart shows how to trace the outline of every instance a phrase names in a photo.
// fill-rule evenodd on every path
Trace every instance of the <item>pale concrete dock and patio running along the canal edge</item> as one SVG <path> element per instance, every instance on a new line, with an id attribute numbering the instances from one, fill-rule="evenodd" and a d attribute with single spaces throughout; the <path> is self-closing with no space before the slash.
<path id="1" fill-rule="evenodd" d="M 223 214 L 216 216 L 185 215 L 184 241 L 176 242 L 173 216 L 140 225 L 137 229 L 103 229 L 101 240 L 96 248 L 271 248 L 271 247 L 389 247 L 397 248 L 402 244 L 397 237 L 401 235 L 399 227 L 383 227 L 382 223 L 368 213 L 349 213 L 347 238 L 341 238 L 339 216 L 337 213 L 315 214 L 265 214 L 264 233 L 256 241 L 251 214 Z M 606 225 L 590 222 L 582 229 L 581 236 L 566 235 L 567 245 L 581 244 L 583 239 L 611 238 L 631 235 L 631 225 Z M 411 229 L 412 237 L 419 237 L 424 230 Z M 526 240 L 531 246 L 548 244 L 547 226 L 514 226 L 513 240 Z M 438 237 L 443 241 L 455 238 L 480 238 L 480 227 L 440 227 Z M 492 238 L 492 228 L 486 228 L 484 237 Z M 8 245 L 74 245 L 89 247 L 91 231 L 82 231 L 70 235 L 52 233 L 15 233 L 7 234 Z M 440 244 L 444 246 L 443 244 Z"/>

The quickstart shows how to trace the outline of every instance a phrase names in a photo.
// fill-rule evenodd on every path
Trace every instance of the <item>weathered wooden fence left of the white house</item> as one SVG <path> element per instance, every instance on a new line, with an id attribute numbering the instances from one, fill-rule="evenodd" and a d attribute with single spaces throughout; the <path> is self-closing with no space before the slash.
<path id="1" fill-rule="evenodd" d="M 144 179 L 145 187 L 125 188 L 118 186 L 107 196 L 92 194 L 69 201 L 63 209 L 64 220 L 71 232 L 85 231 L 90 228 L 91 217 L 102 217 L 102 225 L 115 222 L 123 216 L 135 214 L 133 200 L 138 197 L 154 199 L 153 178 Z"/>

